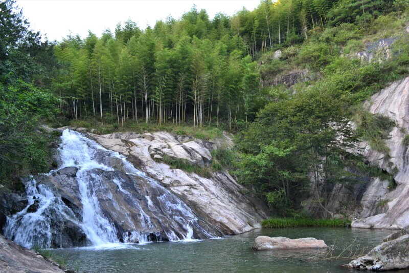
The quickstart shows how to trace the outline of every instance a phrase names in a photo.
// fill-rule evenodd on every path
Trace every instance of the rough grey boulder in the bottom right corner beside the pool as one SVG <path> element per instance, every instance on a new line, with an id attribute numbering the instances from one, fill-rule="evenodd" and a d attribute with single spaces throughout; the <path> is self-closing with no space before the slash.
<path id="1" fill-rule="evenodd" d="M 344 265 L 348 268 L 393 270 L 409 268 L 409 226 L 383 239 L 366 256 Z"/>

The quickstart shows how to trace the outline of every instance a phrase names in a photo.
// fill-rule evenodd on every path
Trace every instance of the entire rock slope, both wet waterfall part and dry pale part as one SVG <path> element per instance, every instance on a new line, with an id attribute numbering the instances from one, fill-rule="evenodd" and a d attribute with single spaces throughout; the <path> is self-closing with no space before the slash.
<path id="1" fill-rule="evenodd" d="M 206 239 L 260 227 L 267 217 L 228 173 L 202 178 L 158 158 L 205 167 L 219 142 L 163 132 L 92 136 L 114 151 L 65 130 L 60 168 L 26 181 L 26 205 L 7 218 L 7 238 L 28 248 Z"/>

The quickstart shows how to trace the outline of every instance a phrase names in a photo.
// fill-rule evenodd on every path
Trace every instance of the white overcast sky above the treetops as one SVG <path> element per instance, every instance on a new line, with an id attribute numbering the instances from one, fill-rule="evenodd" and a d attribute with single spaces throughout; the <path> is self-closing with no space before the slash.
<path id="1" fill-rule="evenodd" d="M 169 15 L 179 19 L 193 4 L 198 11 L 206 9 L 210 19 L 217 12 L 231 16 L 243 7 L 254 10 L 260 0 L 17 0 L 16 4 L 33 30 L 61 41 L 69 34 L 85 38 L 88 30 L 100 37 L 106 28 L 114 32 L 119 22 L 124 26 L 127 18 L 144 30 Z"/>

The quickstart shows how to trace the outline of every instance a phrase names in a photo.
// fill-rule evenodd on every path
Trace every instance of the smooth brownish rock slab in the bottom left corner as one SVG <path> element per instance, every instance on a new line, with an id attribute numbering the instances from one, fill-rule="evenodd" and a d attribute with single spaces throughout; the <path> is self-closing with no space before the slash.
<path id="1" fill-rule="evenodd" d="M 42 256 L 0 235 L 0 272 L 61 272 L 58 266 L 46 261 Z"/>

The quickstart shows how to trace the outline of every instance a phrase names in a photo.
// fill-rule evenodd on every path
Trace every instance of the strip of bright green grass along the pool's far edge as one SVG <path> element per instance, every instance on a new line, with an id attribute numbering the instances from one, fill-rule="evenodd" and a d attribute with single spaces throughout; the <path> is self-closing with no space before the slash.
<path id="1" fill-rule="evenodd" d="M 263 228 L 285 228 L 285 227 L 348 227 L 351 220 L 341 219 L 313 219 L 313 218 L 271 218 L 261 223 Z"/>

